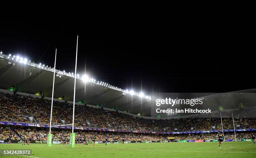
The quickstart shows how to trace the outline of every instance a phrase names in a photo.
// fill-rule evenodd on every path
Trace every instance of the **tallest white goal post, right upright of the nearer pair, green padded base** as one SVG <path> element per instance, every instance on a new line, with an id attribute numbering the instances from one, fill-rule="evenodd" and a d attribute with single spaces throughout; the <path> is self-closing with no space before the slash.
<path id="1" fill-rule="evenodd" d="M 78 47 L 78 35 L 77 35 L 77 47 Z M 76 52 L 76 66 L 75 66 L 75 76 L 74 76 L 74 100 L 73 100 L 73 123 L 72 123 L 72 133 L 70 134 L 71 138 L 71 148 L 74 148 L 75 144 L 75 133 L 74 133 L 74 105 L 75 105 L 75 96 L 76 96 L 76 78 L 77 78 L 77 52 Z"/>

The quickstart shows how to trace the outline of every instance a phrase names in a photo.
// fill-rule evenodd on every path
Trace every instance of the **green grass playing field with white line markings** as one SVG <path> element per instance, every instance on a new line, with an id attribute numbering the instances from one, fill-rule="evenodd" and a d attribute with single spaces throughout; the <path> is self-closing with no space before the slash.
<path id="1" fill-rule="evenodd" d="M 217 142 L 204 143 L 125 143 L 77 145 L 75 148 L 62 144 L 0 144 L 3 149 L 31 149 L 30 157 L 36 158 L 256 158 L 256 145 L 252 142 L 224 142 L 221 149 Z M 0 157 L 25 158 L 27 156 Z"/>

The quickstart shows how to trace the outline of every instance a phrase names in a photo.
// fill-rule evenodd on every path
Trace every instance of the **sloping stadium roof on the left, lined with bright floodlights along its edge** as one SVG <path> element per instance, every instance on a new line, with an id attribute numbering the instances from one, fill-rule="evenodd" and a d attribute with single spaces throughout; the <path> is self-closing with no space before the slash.
<path id="1" fill-rule="evenodd" d="M 16 61 L 17 57 L 0 54 L 0 88 L 8 89 L 15 86 L 16 91 L 28 94 L 41 92 L 43 96 L 51 97 L 53 84 L 53 68 L 42 64 Z M 21 58 L 21 57 L 19 57 Z M 26 59 L 27 60 L 27 59 Z M 31 71 L 31 75 L 30 75 Z M 63 97 L 72 101 L 74 96 L 74 76 L 64 71 L 56 70 L 54 84 L 54 98 Z M 127 91 L 106 84 L 95 79 L 83 79 L 77 77 L 75 101 L 84 101 L 86 104 L 100 104 L 107 108 L 116 108 L 138 114 L 150 107 L 150 96 L 140 96 L 139 93 Z M 147 109 L 147 108 L 146 108 Z"/>

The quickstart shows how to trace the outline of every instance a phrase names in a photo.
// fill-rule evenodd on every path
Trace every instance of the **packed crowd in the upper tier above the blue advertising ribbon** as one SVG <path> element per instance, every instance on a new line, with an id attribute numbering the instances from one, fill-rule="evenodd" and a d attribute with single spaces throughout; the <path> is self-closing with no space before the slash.
<path id="1" fill-rule="evenodd" d="M 51 101 L 32 98 L 31 96 L 10 95 L 0 93 L 0 121 L 31 122 L 49 124 Z M 73 106 L 66 102 L 54 101 L 52 124 L 59 125 L 61 120 L 72 123 Z M 232 118 L 223 118 L 223 128 L 233 129 Z M 234 118 L 235 124 L 241 128 L 256 128 L 255 118 Z M 169 120 L 153 120 L 133 117 L 128 114 L 86 105 L 75 106 L 74 126 L 113 128 L 134 131 L 206 131 L 221 129 L 220 118 L 182 118 Z"/>

